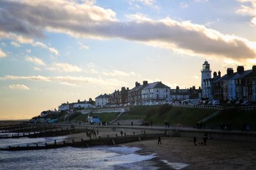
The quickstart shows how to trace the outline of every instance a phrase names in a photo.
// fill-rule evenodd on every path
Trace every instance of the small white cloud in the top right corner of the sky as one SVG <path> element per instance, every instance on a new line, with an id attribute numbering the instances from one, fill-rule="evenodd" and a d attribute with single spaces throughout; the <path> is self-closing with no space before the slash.
<path id="1" fill-rule="evenodd" d="M 236 10 L 237 14 L 247 15 L 252 17 L 251 24 L 256 26 L 256 1 L 255 0 L 237 0 L 243 5 L 240 6 L 239 10 Z M 246 3 L 246 4 L 244 4 Z"/>

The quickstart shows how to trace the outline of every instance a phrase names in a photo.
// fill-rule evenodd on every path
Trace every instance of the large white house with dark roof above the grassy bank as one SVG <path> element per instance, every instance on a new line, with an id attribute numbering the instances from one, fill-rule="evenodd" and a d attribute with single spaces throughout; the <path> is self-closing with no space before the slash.
<path id="1" fill-rule="evenodd" d="M 170 102 L 170 87 L 161 81 L 149 83 L 141 90 L 141 101 L 143 104 Z"/>

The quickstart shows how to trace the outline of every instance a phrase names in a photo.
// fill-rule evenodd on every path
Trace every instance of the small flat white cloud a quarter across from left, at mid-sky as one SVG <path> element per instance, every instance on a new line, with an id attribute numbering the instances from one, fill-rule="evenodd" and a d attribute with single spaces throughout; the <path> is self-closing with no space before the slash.
<path id="1" fill-rule="evenodd" d="M 68 63 L 61 63 L 61 62 L 54 62 L 50 67 L 47 69 L 51 71 L 60 71 L 60 72 L 80 72 L 82 71 L 81 67 L 78 67 L 74 64 Z"/>

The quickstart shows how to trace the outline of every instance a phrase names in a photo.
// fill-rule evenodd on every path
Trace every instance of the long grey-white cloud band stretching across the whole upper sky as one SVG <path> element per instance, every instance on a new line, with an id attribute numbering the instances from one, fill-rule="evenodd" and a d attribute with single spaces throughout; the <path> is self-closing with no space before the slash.
<path id="1" fill-rule="evenodd" d="M 154 1 L 141 0 L 140 2 L 148 5 L 154 4 Z M 51 4 L 51 6 L 45 4 Z M 167 17 L 162 20 L 122 22 L 110 9 L 101 8 L 95 4 L 76 3 L 76 1 L 24 0 L 22 3 L 0 1 L 0 6 L 2 5 L 6 6 L 4 16 L 8 16 L 9 19 L 0 20 L 0 24 L 4 25 L 0 31 L 5 33 L 2 35 L 0 33 L 0 37 L 6 36 L 6 32 L 8 36 L 16 36 L 16 38 L 17 35 L 13 35 L 12 32 L 25 35 L 25 38 L 22 36 L 23 39 L 27 36 L 40 37 L 44 36 L 43 32 L 46 30 L 79 38 L 122 38 L 140 41 L 147 45 L 168 48 L 176 53 L 192 56 L 227 57 L 235 60 L 256 57 L 255 41 L 222 34 L 189 21 L 179 22 Z M 26 10 L 21 10 L 24 8 Z"/>

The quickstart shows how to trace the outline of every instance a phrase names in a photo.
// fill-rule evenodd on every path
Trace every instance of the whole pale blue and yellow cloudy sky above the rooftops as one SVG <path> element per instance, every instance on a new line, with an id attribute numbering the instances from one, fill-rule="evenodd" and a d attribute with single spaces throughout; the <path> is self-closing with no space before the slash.
<path id="1" fill-rule="evenodd" d="M 256 65 L 256 0 L 0 0 L 0 120 Z"/>

